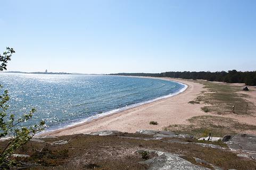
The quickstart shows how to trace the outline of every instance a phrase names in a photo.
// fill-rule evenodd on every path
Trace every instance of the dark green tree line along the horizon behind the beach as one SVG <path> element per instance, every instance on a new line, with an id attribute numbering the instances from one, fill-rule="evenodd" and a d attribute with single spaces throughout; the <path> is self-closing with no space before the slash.
<path id="1" fill-rule="evenodd" d="M 208 81 L 225 83 L 244 83 L 246 85 L 256 86 L 256 71 L 168 71 L 164 73 L 118 73 L 111 75 L 204 79 Z"/>

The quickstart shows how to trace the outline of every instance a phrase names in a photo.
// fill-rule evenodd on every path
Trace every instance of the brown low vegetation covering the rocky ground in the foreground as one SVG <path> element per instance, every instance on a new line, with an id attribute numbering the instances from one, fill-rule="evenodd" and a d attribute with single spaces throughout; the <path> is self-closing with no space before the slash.
<path id="1" fill-rule="evenodd" d="M 226 134 L 225 134 L 226 135 Z M 121 138 L 125 137 L 125 138 Z M 130 137 L 130 138 L 129 138 Z M 184 159 L 196 164 L 194 157 L 210 162 L 223 169 L 254 169 L 256 162 L 252 159 L 238 157 L 237 153 L 230 150 L 222 150 L 211 147 L 202 147 L 194 143 L 203 142 L 226 147 L 217 141 L 197 141 L 196 139 L 176 138 L 174 143 L 166 140 L 150 139 L 150 135 L 139 133 L 120 133 L 119 136 L 90 136 L 90 135 L 68 135 L 55 138 L 44 138 L 45 142 L 29 141 L 23 149 L 19 148 L 15 153 L 31 155 L 29 158 L 20 159 L 24 165 L 23 169 L 141 169 L 146 170 L 148 166 L 141 164 L 145 159 L 138 153 L 138 145 L 142 145 L 143 151 L 159 150 L 172 154 L 183 155 Z M 70 140 L 71 139 L 71 140 Z M 146 140 L 145 140 L 146 139 Z M 70 140 L 66 145 L 51 145 L 56 140 Z M 169 139 L 170 140 L 170 139 Z M 164 142 L 163 142 L 164 141 Z M 189 141 L 189 144 L 182 144 Z M 0 142 L 2 148 L 7 141 Z M 46 146 L 47 145 L 47 146 Z M 43 148 L 43 149 L 42 149 Z M 40 153 L 42 149 L 42 152 Z M 69 150 L 68 157 L 59 157 L 60 150 Z M 42 156 L 37 157 L 37 155 Z M 146 153 L 146 157 L 158 156 L 154 153 Z M 25 165 L 26 164 L 26 165 Z M 30 165 L 30 166 L 29 166 Z M 207 167 L 205 164 L 199 164 Z"/>

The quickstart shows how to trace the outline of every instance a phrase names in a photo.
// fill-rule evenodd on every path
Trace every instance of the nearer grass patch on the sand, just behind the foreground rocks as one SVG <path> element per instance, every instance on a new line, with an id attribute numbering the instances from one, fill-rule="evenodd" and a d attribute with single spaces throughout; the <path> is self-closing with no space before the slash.
<path id="1" fill-rule="evenodd" d="M 231 118 L 219 116 L 203 115 L 188 119 L 188 125 L 173 124 L 164 130 L 173 131 L 176 133 L 188 133 L 197 138 L 207 137 L 209 133 L 212 136 L 223 137 L 224 135 L 235 135 L 247 130 L 256 130 L 256 126 L 240 123 Z"/>

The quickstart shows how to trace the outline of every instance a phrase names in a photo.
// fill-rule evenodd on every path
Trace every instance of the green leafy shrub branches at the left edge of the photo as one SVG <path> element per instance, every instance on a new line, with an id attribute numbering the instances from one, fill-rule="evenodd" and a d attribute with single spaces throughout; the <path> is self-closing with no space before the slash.
<path id="1" fill-rule="evenodd" d="M 15 51 L 13 48 L 6 48 L 3 55 L 0 55 L 0 70 L 6 70 L 7 62 L 11 60 L 11 56 Z M 0 169 L 9 169 L 10 166 L 16 164 L 12 159 L 14 151 L 26 144 L 37 132 L 44 129 L 44 121 L 31 127 L 18 127 L 21 123 L 27 122 L 32 118 L 36 109 L 31 109 L 29 113 L 25 113 L 20 118 L 15 118 L 14 114 L 8 112 L 9 93 L 2 90 L 0 85 L 0 138 L 11 137 L 9 142 L 0 150 Z"/>

